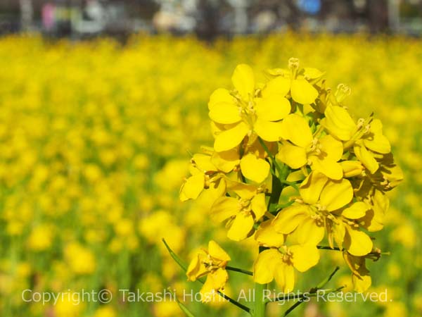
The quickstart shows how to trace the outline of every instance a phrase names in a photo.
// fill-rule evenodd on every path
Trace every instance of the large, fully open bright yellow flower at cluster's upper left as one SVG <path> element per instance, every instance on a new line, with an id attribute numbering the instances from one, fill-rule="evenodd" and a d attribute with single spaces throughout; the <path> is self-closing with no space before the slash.
<path id="1" fill-rule="evenodd" d="M 231 80 L 236 94 L 220 88 L 212 93 L 208 103 L 209 116 L 215 123 L 215 151 L 233 149 L 247 135 L 249 144 L 257 136 L 269 142 L 278 141 L 278 121 L 290 113 L 290 102 L 280 94 L 257 97 L 255 77 L 248 65 L 238 65 Z"/>

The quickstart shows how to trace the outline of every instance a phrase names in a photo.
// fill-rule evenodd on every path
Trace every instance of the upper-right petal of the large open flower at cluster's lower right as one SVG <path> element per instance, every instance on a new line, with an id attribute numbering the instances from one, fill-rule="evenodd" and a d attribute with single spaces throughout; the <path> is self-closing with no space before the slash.
<path id="1" fill-rule="evenodd" d="M 335 211 L 349 204 L 353 198 L 353 189 L 349 180 L 328 180 L 321 192 L 319 202 L 327 211 Z"/>

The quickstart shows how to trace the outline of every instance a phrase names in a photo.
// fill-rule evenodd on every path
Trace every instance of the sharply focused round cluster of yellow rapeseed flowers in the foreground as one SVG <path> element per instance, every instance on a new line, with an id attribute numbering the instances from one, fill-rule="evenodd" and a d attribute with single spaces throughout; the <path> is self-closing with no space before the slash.
<path id="1" fill-rule="evenodd" d="M 297 58 L 266 75 L 267 82 L 256 82 L 241 64 L 234 89 L 212 93 L 214 147 L 193 155 L 180 198 L 207 196 L 214 201 L 210 218 L 226 222 L 229 239 L 254 236 L 261 250 L 255 282 L 276 280 L 292 291 L 295 270 L 315 266 L 326 240 L 343 252 L 354 289 L 363 292 L 371 285 L 365 259 L 381 255 L 371 232 L 383 228 L 385 192 L 402 180 L 381 121 L 373 114 L 354 120 L 343 104 L 350 88 L 329 89 L 324 73 L 301 68 Z M 215 267 L 203 274 L 222 272 Z"/>

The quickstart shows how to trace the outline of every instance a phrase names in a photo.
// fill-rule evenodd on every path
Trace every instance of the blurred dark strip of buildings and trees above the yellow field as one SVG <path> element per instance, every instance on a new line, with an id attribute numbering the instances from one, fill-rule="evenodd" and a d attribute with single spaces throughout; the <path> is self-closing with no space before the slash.
<path id="1" fill-rule="evenodd" d="M 217 35 L 280 32 L 420 35 L 422 0 L 1 0 L 0 33 L 85 37 L 133 32 Z"/>

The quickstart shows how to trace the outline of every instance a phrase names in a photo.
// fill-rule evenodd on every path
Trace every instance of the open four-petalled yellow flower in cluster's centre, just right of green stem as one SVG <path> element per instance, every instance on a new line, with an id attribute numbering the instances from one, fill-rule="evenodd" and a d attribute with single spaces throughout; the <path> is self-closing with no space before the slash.
<path id="1" fill-rule="evenodd" d="M 338 163 L 343 155 L 343 144 L 331 137 L 313 137 L 307 120 L 298 114 L 288 115 L 281 123 L 282 137 L 286 141 L 279 148 L 277 159 L 290 168 L 309 165 L 333 180 L 343 178 L 343 168 Z M 288 140 L 288 141 L 287 141 Z"/>

